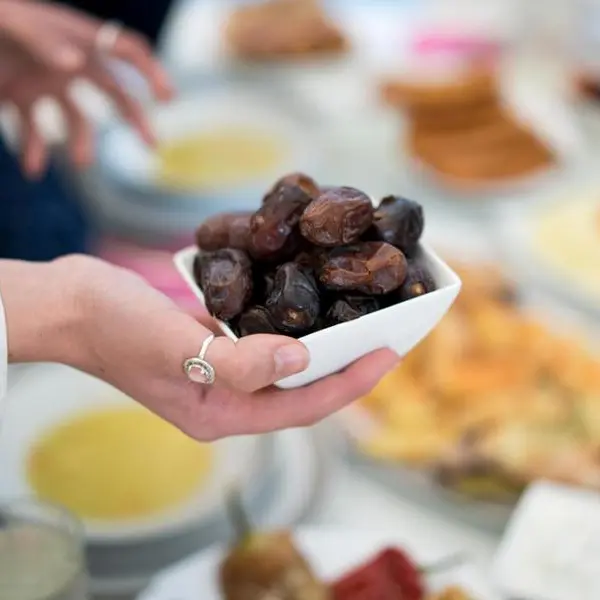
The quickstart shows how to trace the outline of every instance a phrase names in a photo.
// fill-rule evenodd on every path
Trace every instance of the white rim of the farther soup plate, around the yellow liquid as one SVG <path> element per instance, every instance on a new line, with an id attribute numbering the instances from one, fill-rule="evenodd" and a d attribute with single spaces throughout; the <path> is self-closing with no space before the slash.
<path id="1" fill-rule="evenodd" d="M 247 199 L 259 194 L 277 173 L 318 164 L 318 153 L 302 126 L 285 110 L 241 84 L 208 85 L 188 92 L 182 99 L 149 111 L 150 123 L 160 143 L 186 139 L 191 134 L 212 134 L 220 128 L 258 133 L 281 143 L 271 168 L 235 183 L 199 185 L 178 189 L 159 178 L 157 154 L 124 124 L 114 123 L 98 139 L 98 168 L 129 194 L 125 200 L 169 213 L 199 210 L 198 205 L 218 202 L 221 210 L 247 207 Z"/>

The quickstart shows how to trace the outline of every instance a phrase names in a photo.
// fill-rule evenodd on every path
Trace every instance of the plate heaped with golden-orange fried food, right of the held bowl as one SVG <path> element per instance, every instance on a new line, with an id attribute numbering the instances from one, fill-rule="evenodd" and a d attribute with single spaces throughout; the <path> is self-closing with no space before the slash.
<path id="1" fill-rule="evenodd" d="M 476 244 L 464 250 L 456 255 L 471 267 L 474 256 L 484 256 Z M 480 285 L 493 285 L 494 254 L 487 255 L 495 266 L 484 267 Z M 599 489 L 597 328 L 533 285 L 526 293 L 516 289 L 514 308 L 510 298 L 506 305 L 488 305 L 483 296 L 477 303 L 473 278 L 464 269 L 459 274 L 463 294 L 446 320 L 396 375 L 339 418 L 348 456 L 367 475 L 500 533 L 521 490 L 538 478 Z M 497 291 L 510 296 L 515 290 Z M 473 343 L 477 351 L 469 354 Z M 424 371 L 419 353 L 426 357 Z M 548 377 L 544 361 L 556 361 Z"/>

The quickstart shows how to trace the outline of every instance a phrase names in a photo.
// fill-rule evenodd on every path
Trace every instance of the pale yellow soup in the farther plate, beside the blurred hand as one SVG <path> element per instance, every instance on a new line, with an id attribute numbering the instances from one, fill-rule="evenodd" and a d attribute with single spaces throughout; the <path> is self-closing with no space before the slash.
<path id="1" fill-rule="evenodd" d="M 159 144 L 156 179 L 174 190 L 230 188 L 267 177 L 287 154 L 287 144 L 271 133 L 216 127 Z"/>

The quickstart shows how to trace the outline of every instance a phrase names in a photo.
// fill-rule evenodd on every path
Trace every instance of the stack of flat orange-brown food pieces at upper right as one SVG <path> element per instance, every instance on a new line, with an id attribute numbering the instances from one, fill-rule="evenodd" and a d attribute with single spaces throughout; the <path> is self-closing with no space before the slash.
<path id="1" fill-rule="evenodd" d="M 387 82 L 382 96 L 407 112 L 409 152 L 448 184 L 518 178 L 555 162 L 548 146 L 504 106 L 490 70 L 450 83 Z"/>

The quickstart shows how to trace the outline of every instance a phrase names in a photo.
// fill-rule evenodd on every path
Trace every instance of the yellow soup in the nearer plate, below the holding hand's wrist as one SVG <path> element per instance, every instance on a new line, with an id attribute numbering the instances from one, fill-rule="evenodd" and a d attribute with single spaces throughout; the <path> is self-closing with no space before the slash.
<path id="1" fill-rule="evenodd" d="M 27 476 L 36 495 L 82 519 L 158 515 L 206 483 L 213 449 L 136 407 L 88 410 L 40 437 Z"/>

